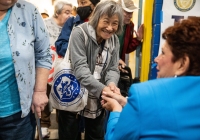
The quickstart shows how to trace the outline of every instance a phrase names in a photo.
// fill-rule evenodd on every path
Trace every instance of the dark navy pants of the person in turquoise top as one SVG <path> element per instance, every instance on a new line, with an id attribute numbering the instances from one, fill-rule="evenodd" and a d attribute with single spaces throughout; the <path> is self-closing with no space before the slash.
<path id="1" fill-rule="evenodd" d="M 0 118 L 0 140 L 34 140 L 36 121 L 33 113 L 21 118 L 21 112 Z"/>

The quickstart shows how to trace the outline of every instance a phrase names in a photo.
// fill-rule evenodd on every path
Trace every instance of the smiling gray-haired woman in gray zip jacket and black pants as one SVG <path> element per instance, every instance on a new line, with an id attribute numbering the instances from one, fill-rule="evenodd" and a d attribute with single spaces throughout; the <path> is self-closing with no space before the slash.
<path id="1" fill-rule="evenodd" d="M 89 91 L 87 106 L 80 112 L 85 119 L 86 140 L 104 139 L 105 110 L 100 104 L 101 94 L 103 91 L 119 91 L 116 87 L 119 79 L 119 40 L 116 33 L 123 30 L 122 13 L 117 2 L 101 1 L 89 22 L 74 27 L 70 36 L 69 51 L 74 75 Z M 63 121 L 71 123 L 63 126 L 65 139 L 75 140 L 77 137 L 80 121 L 77 113 L 67 112 L 63 117 Z"/>

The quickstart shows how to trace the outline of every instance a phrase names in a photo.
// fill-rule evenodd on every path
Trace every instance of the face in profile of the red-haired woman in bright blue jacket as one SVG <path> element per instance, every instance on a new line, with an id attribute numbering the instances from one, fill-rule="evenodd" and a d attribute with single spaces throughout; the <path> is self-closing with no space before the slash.
<path id="1" fill-rule="evenodd" d="M 172 58 L 173 54 L 170 46 L 165 41 L 162 46 L 162 53 L 154 60 L 157 63 L 157 78 L 174 77 L 176 75 L 179 68 L 179 61 L 173 62 Z"/>

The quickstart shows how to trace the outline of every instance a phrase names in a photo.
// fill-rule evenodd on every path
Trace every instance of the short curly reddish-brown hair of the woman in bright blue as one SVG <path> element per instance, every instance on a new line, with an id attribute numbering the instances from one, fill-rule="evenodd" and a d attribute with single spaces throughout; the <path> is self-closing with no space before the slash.
<path id="1" fill-rule="evenodd" d="M 200 75 L 200 17 L 191 17 L 168 27 L 162 38 L 170 45 L 172 61 L 189 57 L 186 75 Z"/>

